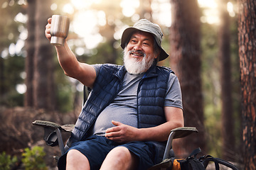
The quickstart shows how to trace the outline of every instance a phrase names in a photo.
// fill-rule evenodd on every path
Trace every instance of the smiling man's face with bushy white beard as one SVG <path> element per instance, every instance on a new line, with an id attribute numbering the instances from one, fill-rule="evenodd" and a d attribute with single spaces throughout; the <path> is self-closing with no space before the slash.
<path id="1" fill-rule="evenodd" d="M 124 66 L 130 74 L 141 74 L 151 67 L 157 56 L 153 35 L 137 31 L 124 49 Z"/>

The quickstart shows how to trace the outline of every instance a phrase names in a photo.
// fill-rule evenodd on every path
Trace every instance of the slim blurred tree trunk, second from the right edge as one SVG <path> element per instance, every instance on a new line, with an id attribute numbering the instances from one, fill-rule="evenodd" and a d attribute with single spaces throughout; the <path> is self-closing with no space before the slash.
<path id="1" fill-rule="evenodd" d="M 231 85 L 230 64 L 230 16 L 227 11 L 228 1 L 219 1 L 220 27 L 218 33 L 218 55 L 220 57 L 220 84 L 222 98 L 222 137 L 223 137 L 223 159 L 233 161 L 235 156 L 235 136 L 233 120 L 233 99 Z"/>

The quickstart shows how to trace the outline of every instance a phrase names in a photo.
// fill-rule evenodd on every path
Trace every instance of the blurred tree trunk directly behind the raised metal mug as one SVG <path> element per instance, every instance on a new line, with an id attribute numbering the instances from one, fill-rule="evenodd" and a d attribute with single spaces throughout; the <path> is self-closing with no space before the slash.
<path id="1" fill-rule="evenodd" d="M 35 108 L 55 108 L 53 87 L 53 47 L 47 40 L 44 30 L 51 16 L 51 1 L 36 0 L 36 50 L 34 58 L 34 106 Z"/>

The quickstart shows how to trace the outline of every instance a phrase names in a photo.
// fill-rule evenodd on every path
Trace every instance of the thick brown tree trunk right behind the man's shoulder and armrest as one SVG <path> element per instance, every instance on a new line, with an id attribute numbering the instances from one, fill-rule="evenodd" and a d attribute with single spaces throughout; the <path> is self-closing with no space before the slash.
<path id="1" fill-rule="evenodd" d="M 206 151 L 201 91 L 200 20 L 196 0 L 171 0 L 170 60 L 181 84 L 186 126 L 198 129 L 176 142 L 177 157 L 187 157 L 196 147 Z"/>

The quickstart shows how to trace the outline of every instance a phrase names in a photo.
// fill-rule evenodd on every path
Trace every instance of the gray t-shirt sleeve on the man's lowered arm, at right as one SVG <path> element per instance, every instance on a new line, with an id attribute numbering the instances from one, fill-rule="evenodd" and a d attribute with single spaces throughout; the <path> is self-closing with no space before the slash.
<path id="1" fill-rule="evenodd" d="M 183 109 L 181 85 L 179 84 L 178 77 L 175 74 L 170 74 L 164 106 L 176 107 Z"/>

